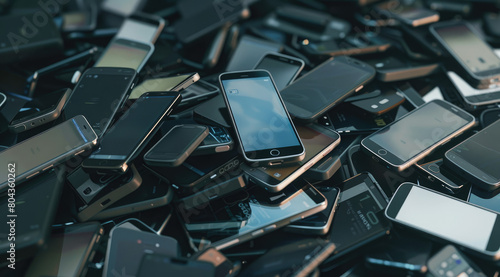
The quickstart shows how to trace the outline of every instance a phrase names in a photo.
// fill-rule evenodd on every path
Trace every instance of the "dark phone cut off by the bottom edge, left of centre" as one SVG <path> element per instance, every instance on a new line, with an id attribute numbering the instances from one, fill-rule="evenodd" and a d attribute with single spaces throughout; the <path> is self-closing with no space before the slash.
<path id="1" fill-rule="evenodd" d="M 174 276 L 215 276 L 214 264 L 175 256 L 145 254 L 135 276 L 158 276 L 168 272 Z"/>

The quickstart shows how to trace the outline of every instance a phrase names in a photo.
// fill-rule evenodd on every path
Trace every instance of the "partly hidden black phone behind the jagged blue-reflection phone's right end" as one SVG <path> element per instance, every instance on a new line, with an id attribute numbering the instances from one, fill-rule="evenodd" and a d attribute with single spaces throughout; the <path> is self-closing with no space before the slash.
<path id="1" fill-rule="evenodd" d="M 315 187 L 328 201 L 326 209 L 315 215 L 291 223 L 285 227 L 285 230 L 311 235 L 326 235 L 328 233 L 335 215 L 335 210 L 337 210 L 339 205 L 340 190 L 336 187 L 326 186 L 326 184 L 319 184 Z"/>

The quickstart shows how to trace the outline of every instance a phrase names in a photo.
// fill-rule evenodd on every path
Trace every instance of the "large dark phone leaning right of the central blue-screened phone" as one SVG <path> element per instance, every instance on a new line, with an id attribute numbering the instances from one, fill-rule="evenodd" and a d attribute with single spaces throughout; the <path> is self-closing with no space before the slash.
<path id="1" fill-rule="evenodd" d="M 286 87 L 281 95 L 290 114 L 313 121 L 375 76 L 375 69 L 350 57 L 330 58 Z"/>

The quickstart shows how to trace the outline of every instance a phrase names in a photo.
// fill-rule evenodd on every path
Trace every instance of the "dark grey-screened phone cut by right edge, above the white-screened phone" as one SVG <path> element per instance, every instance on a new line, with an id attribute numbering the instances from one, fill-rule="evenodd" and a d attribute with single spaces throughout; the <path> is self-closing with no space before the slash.
<path id="1" fill-rule="evenodd" d="M 500 120 L 448 150 L 445 165 L 484 190 L 497 189 L 500 186 L 498 136 Z"/>

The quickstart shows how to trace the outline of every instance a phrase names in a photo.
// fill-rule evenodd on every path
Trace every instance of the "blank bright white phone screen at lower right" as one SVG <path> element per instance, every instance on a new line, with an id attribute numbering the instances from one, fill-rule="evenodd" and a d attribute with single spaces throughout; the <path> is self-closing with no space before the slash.
<path id="1" fill-rule="evenodd" d="M 464 246 L 485 250 L 496 214 L 413 187 L 396 220 Z"/>

